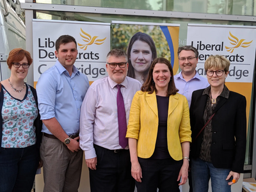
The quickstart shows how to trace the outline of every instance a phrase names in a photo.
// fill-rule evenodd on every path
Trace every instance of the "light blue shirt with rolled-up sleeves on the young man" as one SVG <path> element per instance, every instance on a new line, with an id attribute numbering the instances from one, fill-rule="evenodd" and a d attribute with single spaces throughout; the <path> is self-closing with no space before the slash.
<path id="1" fill-rule="evenodd" d="M 79 132 L 80 108 L 88 88 L 88 77 L 74 66 L 70 77 L 68 71 L 56 61 L 36 84 L 41 120 L 55 117 L 68 135 Z M 44 124 L 42 132 L 52 134 Z"/>

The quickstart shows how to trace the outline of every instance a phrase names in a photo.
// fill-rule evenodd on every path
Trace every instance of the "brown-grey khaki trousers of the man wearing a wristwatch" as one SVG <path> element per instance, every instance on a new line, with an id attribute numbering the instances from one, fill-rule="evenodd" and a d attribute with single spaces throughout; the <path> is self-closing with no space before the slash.
<path id="1" fill-rule="evenodd" d="M 44 192 L 78 191 L 83 150 L 73 153 L 60 140 L 43 136 L 40 156 L 44 163 Z"/>

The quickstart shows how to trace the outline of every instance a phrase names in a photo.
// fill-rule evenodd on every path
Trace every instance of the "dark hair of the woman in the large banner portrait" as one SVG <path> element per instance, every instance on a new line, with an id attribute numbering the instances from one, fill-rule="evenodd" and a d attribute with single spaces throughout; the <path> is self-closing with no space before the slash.
<path id="1" fill-rule="evenodd" d="M 152 52 L 152 60 L 157 58 L 156 45 L 154 43 L 154 40 L 151 38 L 151 36 L 147 35 L 147 33 L 142 33 L 142 32 L 135 33 L 132 36 L 132 38 L 129 42 L 128 48 L 127 48 L 127 58 L 128 58 L 128 63 L 129 63 L 127 76 L 132 77 L 132 78 L 135 78 L 135 74 L 134 74 L 134 67 L 132 67 L 130 58 L 131 58 L 132 45 L 134 44 L 134 42 L 136 42 L 136 40 L 140 40 L 141 42 L 147 43 Z M 148 68 L 148 70 L 149 70 L 149 68 Z M 148 70 L 145 72 L 145 74 L 148 73 Z"/>

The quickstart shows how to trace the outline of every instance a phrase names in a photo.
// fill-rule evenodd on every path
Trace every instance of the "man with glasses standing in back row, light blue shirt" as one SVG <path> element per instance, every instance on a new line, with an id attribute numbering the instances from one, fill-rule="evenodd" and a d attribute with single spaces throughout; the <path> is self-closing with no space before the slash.
<path id="1" fill-rule="evenodd" d="M 206 78 L 196 72 L 198 51 L 195 47 L 191 45 L 179 47 L 178 56 L 181 72 L 174 76 L 175 86 L 179 90 L 178 93 L 188 99 L 190 107 L 192 93 L 195 90 L 207 88 L 210 84 Z"/>

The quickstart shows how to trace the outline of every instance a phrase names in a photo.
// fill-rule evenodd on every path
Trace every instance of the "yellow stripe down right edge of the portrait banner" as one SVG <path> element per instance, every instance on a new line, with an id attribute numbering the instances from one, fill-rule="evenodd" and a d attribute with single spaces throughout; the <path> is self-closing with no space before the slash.
<path id="1" fill-rule="evenodd" d="M 179 48 L 179 27 L 168 26 L 168 30 L 172 37 L 173 51 L 174 51 L 174 65 L 173 65 L 173 74 L 179 74 L 179 58 L 178 58 L 178 48 Z"/>

